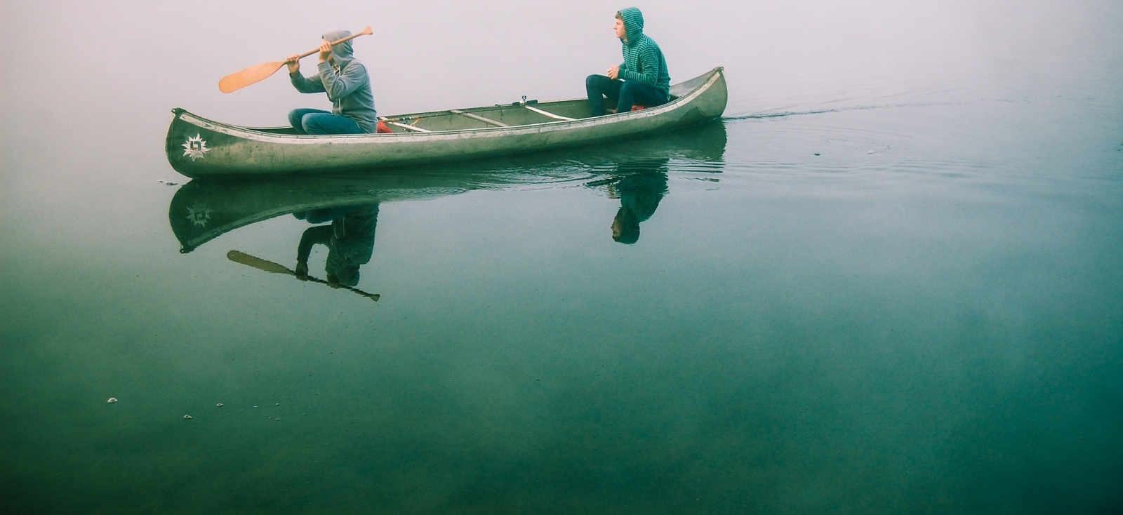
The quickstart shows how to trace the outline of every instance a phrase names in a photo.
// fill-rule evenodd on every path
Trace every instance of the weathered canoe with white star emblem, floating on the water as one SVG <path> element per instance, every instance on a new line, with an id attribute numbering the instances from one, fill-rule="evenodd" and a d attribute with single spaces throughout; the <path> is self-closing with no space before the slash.
<path id="1" fill-rule="evenodd" d="M 304 136 L 174 109 L 165 150 L 176 172 L 197 178 L 369 171 L 602 144 L 720 117 L 728 100 L 722 68 L 673 85 L 670 95 L 663 105 L 595 118 L 586 99 L 399 114 L 381 118 L 390 134 L 364 135 Z"/>

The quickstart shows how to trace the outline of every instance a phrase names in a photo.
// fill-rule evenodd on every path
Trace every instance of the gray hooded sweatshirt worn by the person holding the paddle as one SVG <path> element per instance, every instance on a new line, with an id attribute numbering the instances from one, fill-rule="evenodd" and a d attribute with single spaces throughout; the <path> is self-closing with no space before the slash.
<path id="1" fill-rule="evenodd" d="M 332 30 L 323 35 L 323 39 L 335 42 L 350 36 L 348 30 Z M 366 66 L 351 55 L 350 42 L 331 47 L 331 58 L 336 62 L 320 63 L 318 73 L 305 77 L 299 72 L 289 75 L 292 85 L 301 93 L 327 93 L 331 100 L 331 112 L 355 120 L 366 132 L 375 132 L 378 128 L 378 114 L 374 110 L 374 95 L 371 94 L 371 79 Z"/>

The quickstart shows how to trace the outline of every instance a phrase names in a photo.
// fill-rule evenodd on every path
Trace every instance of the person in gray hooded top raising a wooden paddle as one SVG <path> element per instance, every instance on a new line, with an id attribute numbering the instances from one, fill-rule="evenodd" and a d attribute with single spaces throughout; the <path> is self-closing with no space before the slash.
<path id="1" fill-rule="evenodd" d="M 331 100 L 331 111 L 320 109 L 294 109 L 289 113 L 289 122 L 301 135 L 357 135 L 376 132 L 378 116 L 374 110 L 371 79 L 366 66 L 351 55 L 351 42 L 332 46 L 350 36 L 348 30 L 332 30 L 323 35 L 320 44 L 320 64 L 316 75 L 305 77 L 300 73 L 300 58 L 289 56 L 289 79 L 301 93 L 327 93 Z"/>

